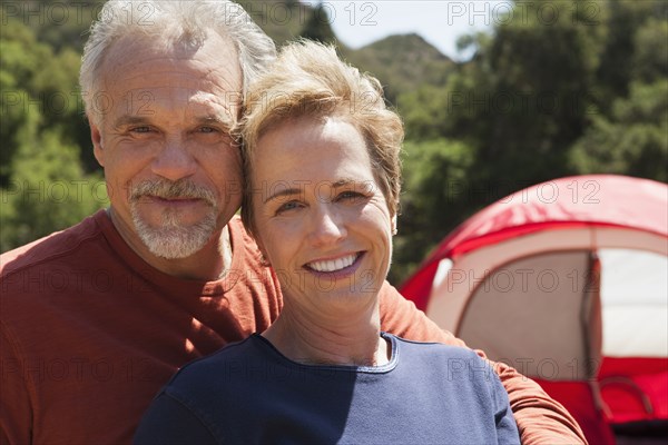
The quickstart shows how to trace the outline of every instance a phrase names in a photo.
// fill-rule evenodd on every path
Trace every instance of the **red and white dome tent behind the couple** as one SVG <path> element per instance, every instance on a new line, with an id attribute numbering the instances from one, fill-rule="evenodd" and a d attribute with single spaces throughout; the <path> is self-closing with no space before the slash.
<path id="1" fill-rule="evenodd" d="M 576 176 L 473 215 L 401 290 L 610 443 L 610 426 L 668 431 L 667 255 L 668 186 Z"/>

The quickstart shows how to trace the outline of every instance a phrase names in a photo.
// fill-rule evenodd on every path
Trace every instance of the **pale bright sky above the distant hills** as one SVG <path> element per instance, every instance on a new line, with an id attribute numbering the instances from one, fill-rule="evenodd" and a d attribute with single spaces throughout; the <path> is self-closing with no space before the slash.
<path id="1" fill-rule="evenodd" d="M 315 6 L 316 0 L 303 0 Z M 390 34 L 415 32 L 455 60 L 458 37 L 490 30 L 509 12 L 509 0 L 326 0 L 332 28 L 346 46 L 357 49 Z"/>

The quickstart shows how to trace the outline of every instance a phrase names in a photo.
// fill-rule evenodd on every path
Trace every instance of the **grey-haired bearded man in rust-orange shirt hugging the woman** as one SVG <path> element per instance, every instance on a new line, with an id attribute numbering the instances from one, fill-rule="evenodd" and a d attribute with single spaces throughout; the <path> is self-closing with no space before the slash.
<path id="1" fill-rule="evenodd" d="M 110 1 L 100 18 L 80 80 L 111 205 L 1 257 L 2 443 L 129 443 L 174 372 L 282 308 L 234 216 L 243 178 L 229 134 L 273 42 L 226 0 Z M 383 330 L 463 346 L 386 294 Z M 583 442 L 538 385 L 495 369 L 525 443 Z"/>

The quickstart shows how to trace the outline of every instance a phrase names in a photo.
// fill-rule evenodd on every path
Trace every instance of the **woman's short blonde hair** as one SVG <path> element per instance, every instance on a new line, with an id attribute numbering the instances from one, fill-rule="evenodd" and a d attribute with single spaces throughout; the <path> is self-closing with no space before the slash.
<path id="1" fill-rule="evenodd" d="M 334 47 L 308 40 L 283 47 L 272 68 L 250 83 L 245 106 L 238 129 L 245 178 L 242 218 L 252 234 L 255 186 L 250 172 L 257 142 L 285 121 L 303 117 L 341 117 L 360 131 L 390 214 L 396 215 L 402 121 L 387 109 L 377 79 L 343 62 Z"/>

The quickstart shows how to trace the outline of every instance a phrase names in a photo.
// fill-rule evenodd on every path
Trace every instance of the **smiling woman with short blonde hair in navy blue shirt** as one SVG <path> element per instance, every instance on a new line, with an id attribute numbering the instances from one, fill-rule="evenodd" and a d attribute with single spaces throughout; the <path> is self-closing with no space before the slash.
<path id="1" fill-rule="evenodd" d="M 179 370 L 136 443 L 519 443 L 475 353 L 380 330 L 403 138 L 381 91 L 314 42 L 285 47 L 250 87 L 243 219 L 284 307 Z"/>

